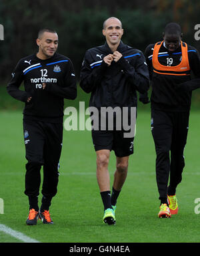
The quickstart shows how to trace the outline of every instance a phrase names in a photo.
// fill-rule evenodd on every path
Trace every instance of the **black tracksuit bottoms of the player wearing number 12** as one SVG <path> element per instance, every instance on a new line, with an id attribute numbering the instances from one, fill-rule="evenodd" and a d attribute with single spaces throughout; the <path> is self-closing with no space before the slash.
<path id="1" fill-rule="evenodd" d="M 23 121 L 26 164 L 25 195 L 37 197 L 41 184 L 43 166 L 43 186 L 41 193 L 51 199 L 57 193 L 59 180 L 59 158 L 63 140 L 63 124 Z"/>

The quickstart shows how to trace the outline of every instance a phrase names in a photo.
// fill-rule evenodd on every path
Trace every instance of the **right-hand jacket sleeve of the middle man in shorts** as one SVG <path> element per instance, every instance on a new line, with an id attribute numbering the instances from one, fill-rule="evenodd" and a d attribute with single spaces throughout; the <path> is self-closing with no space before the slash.
<path id="1" fill-rule="evenodd" d="M 126 61 L 124 57 L 119 59 L 119 64 L 129 78 L 129 82 L 135 87 L 135 90 L 144 94 L 149 90 L 149 71 L 143 53 L 140 51 L 138 55 L 139 57 L 137 57 L 134 66 Z"/>

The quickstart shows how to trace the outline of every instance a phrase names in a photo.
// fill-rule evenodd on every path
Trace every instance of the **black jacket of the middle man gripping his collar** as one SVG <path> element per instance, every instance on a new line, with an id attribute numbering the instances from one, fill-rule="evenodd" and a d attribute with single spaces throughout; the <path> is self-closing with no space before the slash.
<path id="1" fill-rule="evenodd" d="M 103 57 L 112 54 L 107 42 L 104 45 L 88 49 L 81 68 L 80 86 L 91 92 L 89 106 L 96 108 L 135 107 L 137 93 L 149 90 L 149 72 L 145 57 L 138 49 L 125 45 L 122 41 L 117 48 L 123 56 L 111 66 Z"/>

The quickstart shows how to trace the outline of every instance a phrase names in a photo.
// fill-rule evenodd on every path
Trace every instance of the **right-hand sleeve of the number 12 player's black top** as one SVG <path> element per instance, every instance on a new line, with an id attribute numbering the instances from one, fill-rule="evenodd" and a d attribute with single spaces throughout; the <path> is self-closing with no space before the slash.
<path id="1" fill-rule="evenodd" d="M 64 79 L 57 82 L 57 84 L 47 84 L 46 90 L 47 92 L 55 94 L 61 98 L 75 100 L 77 97 L 77 84 L 73 63 L 70 59 L 67 62 L 66 69 Z"/>

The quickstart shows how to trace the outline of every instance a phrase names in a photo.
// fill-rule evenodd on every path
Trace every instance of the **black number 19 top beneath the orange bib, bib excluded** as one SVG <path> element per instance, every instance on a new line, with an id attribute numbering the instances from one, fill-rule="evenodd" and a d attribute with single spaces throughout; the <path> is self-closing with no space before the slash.
<path id="1" fill-rule="evenodd" d="M 151 108 L 163 111 L 188 111 L 191 106 L 191 91 L 195 90 L 192 86 L 191 76 L 169 76 L 157 74 L 153 72 L 152 56 L 154 45 L 150 44 L 145 49 L 145 57 L 149 67 L 149 76 L 152 85 L 151 94 Z M 188 47 L 188 60 L 191 75 L 200 78 L 200 58 L 199 53 L 195 47 L 187 45 Z M 169 65 L 177 66 L 181 62 L 182 52 L 181 46 L 178 47 L 173 53 L 170 53 L 165 45 L 161 45 L 159 49 L 158 59 L 163 66 Z M 191 83 L 188 89 L 182 86 L 183 83 Z"/>

